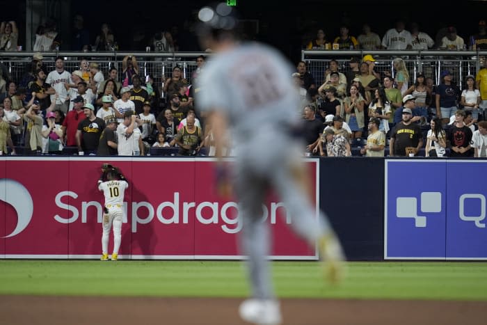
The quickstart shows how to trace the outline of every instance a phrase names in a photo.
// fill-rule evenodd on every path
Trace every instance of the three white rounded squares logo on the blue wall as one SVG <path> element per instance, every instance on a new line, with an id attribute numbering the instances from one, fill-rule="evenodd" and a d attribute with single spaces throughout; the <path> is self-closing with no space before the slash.
<path id="1" fill-rule="evenodd" d="M 421 212 L 441 212 L 441 192 L 421 193 Z M 396 199 L 396 216 L 415 219 L 415 227 L 426 227 L 426 216 L 417 215 L 417 198 L 399 197 Z"/>

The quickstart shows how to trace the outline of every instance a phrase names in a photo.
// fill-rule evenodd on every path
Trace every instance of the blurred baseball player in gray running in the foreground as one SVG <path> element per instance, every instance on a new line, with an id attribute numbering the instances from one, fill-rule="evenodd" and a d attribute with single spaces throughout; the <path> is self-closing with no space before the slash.
<path id="1" fill-rule="evenodd" d="M 235 176 L 227 172 L 223 159 L 218 159 L 216 174 L 218 181 L 228 180 L 234 186 L 243 222 L 241 248 L 248 255 L 252 297 L 241 303 L 240 316 L 253 324 L 281 324 L 267 261 L 269 226 L 260 218 L 266 191 L 273 189 L 285 203 L 293 230 L 311 246 L 319 244 L 330 280 L 341 275 L 344 257 L 328 219 L 323 213 L 316 218 L 308 200 L 307 173 L 299 149 L 305 145 L 292 136 L 301 125 L 292 67 L 266 45 L 237 43 L 232 10 L 220 3 L 198 13 L 202 48 L 216 54 L 198 77 L 200 92 L 195 103 L 207 111 L 216 157 L 222 157 L 228 132 L 235 143 Z"/>

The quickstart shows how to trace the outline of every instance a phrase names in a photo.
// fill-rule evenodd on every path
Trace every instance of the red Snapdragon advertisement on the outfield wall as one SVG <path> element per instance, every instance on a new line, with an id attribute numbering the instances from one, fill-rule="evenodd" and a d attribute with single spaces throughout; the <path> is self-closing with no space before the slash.
<path id="1" fill-rule="evenodd" d="M 120 258 L 242 257 L 238 203 L 217 196 L 214 161 L 156 157 L 0 159 L 0 257 L 99 257 L 104 196 L 97 180 L 106 162 L 129 180 Z M 312 180 L 312 203 L 318 207 L 319 162 L 307 159 L 305 164 Z M 294 235 L 291 216 L 272 193 L 262 207 L 262 221 L 272 230 L 274 259 L 317 259 L 315 249 Z"/>

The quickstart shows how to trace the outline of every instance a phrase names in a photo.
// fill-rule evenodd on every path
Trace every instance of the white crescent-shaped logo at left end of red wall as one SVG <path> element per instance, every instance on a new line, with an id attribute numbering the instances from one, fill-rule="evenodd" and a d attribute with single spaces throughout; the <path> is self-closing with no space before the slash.
<path id="1" fill-rule="evenodd" d="M 8 189 L 8 195 L 7 195 Z M 0 180 L 0 200 L 9 205 L 12 205 L 17 212 L 17 226 L 5 237 L 8 238 L 18 235 L 22 230 L 24 230 L 32 219 L 32 213 L 34 211 L 34 205 L 32 202 L 32 197 L 29 191 L 16 180 L 9 180 L 8 178 L 3 178 Z"/>

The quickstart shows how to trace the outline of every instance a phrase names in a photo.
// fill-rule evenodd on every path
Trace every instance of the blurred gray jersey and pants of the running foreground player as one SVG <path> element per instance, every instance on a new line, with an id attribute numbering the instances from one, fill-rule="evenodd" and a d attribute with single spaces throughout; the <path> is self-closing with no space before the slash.
<path id="1" fill-rule="evenodd" d="M 316 218 L 292 173 L 302 164 L 305 146 L 290 132 L 301 123 L 292 72 L 278 51 L 253 43 L 211 57 L 198 77 L 198 108 L 222 110 L 229 122 L 236 156 L 234 188 L 243 222 L 241 245 L 257 299 L 274 296 L 266 262 L 271 237 L 261 222 L 267 189 L 276 191 L 285 203 L 301 237 L 314 242 L 328 229 L 328 221 L 323 215 Z"/>

